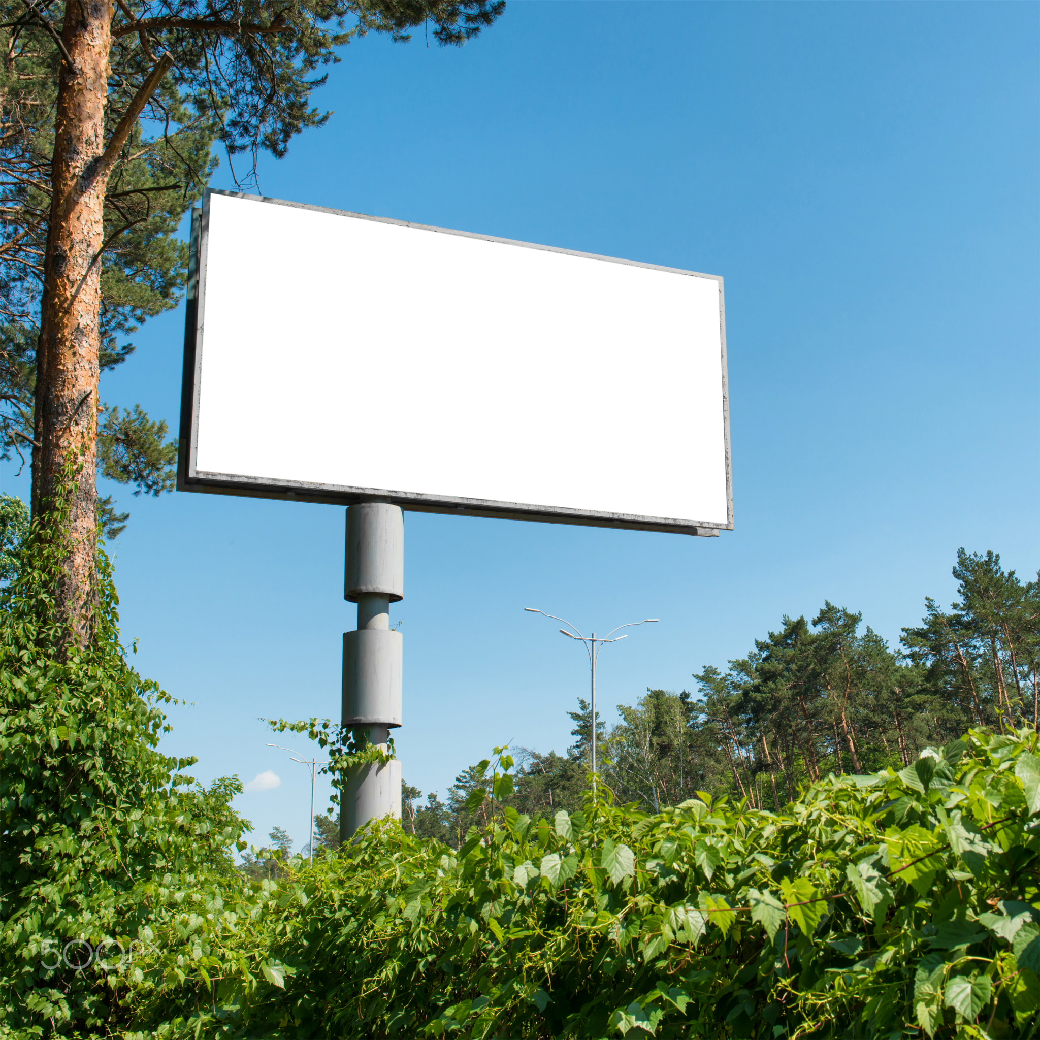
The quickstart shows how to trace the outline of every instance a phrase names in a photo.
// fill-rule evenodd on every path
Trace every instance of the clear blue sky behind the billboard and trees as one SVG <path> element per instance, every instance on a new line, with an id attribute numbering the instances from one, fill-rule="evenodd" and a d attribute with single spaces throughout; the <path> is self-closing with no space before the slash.
<path id="1" fill-rule="evenodd" d="M 511 0 L 461 50 L 346 49 L 316 95 L 335 114 L 261 161 L 264 194 L 726 280 L 733 531 L 406 515 L 410 783 L 443 796 L 493 745 L 570 743 L 588 661 L 524 606 L 661 619 L 603 652 L 613 719 L 825 599 L 898 640 L 954 595 L 959 546 L 1036 573 L 1038 54 L 1023 3 Z M 103 397 L 176 427 L 183 309 L 135 342 Z M 338 714 L 343 510 L 116 493 L 124 633 L 192 705 L 165 748 L 203 780 L 274 771 L 237 805 L 300 848 L 308 774 L 258 718 Z"/>

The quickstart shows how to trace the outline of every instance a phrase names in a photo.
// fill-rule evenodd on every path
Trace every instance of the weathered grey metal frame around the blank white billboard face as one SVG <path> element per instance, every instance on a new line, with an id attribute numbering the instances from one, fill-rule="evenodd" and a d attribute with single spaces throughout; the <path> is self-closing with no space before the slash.
<path id="1" fill-rule="evenodd" d="M 200 472 L 196 465 L 199 430 L 199 394 L 202 373 L 202 357 L 205 349 L 205 302 L 206 302 L 206 257 L 209 239 L 209 199 L 212 194 L 248 199 L 251 202 L 265 202 L 272 206 L 288 206 L 293 209 L 315 210 L 336 216 L 348 216 L 378 224 L 392 224 L 402 228 L 434 231 L 444 235 L 459 235 L 463 238 L 478 238 L 505 245 L 544 250 L 548 253 L 563 253 L 567 256 L 583 257 L 589 260 L 603 260 L 608 263 L 646 267 L 692 278 L 705 278 L 719 283 L 719 322 L 722 344 L 722 407 L 726 452 L 726 524 L 702 523 L 669 517 L 633 516 L 623 513 L 598 513 L 573 510 L 564 506 L 529 505 L 521 502 L 488 501 L 476 498 L 454 498 L 396 491 L 386 488 L 356 488 L 339 485 L 306 484 L 289 480 L 262 479 L 233 473 Z M 597 256 L 594 253 L 579 253 L 575 250 L 557 249 L 554 245 L 539 245 L 519 242 L 510 238 L 492 235 L 477 235 L 448 228 L 435 228 L 424 224 L 394 220 L 365 213 L 330 209 L 324 206 L 309 206 L 303 203 L 286 202 L 282 199 L 267 199 L 241 191 L 207 189 L 203 196 L 203 208 L 191 211 L 191 241 L 188 260 L 187 306 L 184 328 L 184 370 L 181 384 L 181 421 L 177 460 L 177 490 L 197 491 L 209 494 L 242 495 L 250 498 L 279 498 L 286 501 L 321 502 L 326 504 L 352 505 L 356 502 L 382 501 L 399 505 L 404 510 L 417 513 L 445 513 L 463 516 L 495 517 L 505 520 L 537 520 L 544 523 L 577 524 L 586 527 L 620 527 L 630 530 L 655 530 L 681 535 L 713 537 L 720 530 L 733 529 L 733 484 L 729 446 L 729 384 L 726 370 L 726 303 L 723 280 L 717 275 L 702 275 L 699 271 L 683 270 L 678 267 L 664 267 L 658 264 L 640 263 L 636 260 L 622 260 L 618 257 Z"/>

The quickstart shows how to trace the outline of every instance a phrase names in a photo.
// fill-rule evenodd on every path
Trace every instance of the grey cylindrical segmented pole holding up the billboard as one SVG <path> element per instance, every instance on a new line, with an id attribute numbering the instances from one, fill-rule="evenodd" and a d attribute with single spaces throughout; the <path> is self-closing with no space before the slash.
<path id="1" fill-rule="evenodd" d="M 390 604 L 405 598 L 405 518 L 398 505 L 360 502 L 346 511 L 343 596 L 358 604 L 358 628 L 343 633 L 343 728 L 386 754 L 401 723 L 401 633 Z M 340 805 L 345 840 L 369 820 L 400 818 L 400 762 L 352 768 Z"/>

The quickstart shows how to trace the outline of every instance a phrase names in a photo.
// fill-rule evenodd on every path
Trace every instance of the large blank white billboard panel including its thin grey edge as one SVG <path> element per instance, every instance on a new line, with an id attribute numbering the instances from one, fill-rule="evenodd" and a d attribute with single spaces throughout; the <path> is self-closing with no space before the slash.
<path id="1" fill-rule="evenodd" d="M 198 278 L 185 490 L 732 527 L 721 279 L 215 191 Z"/>

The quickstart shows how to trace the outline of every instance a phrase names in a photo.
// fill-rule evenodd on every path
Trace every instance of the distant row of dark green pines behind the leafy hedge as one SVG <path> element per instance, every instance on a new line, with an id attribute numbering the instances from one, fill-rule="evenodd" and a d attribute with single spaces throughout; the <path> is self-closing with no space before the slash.
<path id="1" fill-rule="evenodd" d="M 861 614 L 825 602 L 811 619 L 781 619 L 725 672 L 696 673 L 693 693 L 650 690 L 597 720 L 600 777 L 618 802 L 657 812 L 699 791 L 779 809 L 828 773 L 903 769 L 922 748 L 970 727 L 1031 726 L 1040 716 L 1040 577 L 1022 581 L 997 553 L 961 549 L 957 600 L 925 601 L 920 623 L 891 647 Z M 600 712 L 597 711 L 597 716 Z M 581 805 L 592 735 L 589 704 L 568 712 L 575 743 L 564 754 L 514 749 L 519 768 L 506 803 L 532 818 Z M 405 784 L 402 825 L 459 848 L 479 820 L 467 809 L 478 766 L 441 800 Z M 319 841 L 338 828 L 318 817 Z"/>

